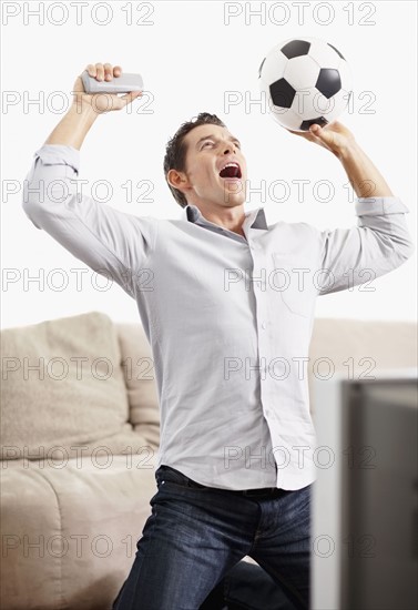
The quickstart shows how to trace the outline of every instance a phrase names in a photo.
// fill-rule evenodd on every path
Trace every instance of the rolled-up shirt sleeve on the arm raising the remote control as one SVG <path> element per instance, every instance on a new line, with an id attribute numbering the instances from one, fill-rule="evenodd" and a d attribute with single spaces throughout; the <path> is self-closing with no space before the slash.
<path id="1" fill-rule="evenodd" d="M 24 213 L 37 228 L 135 297 L 135 277 L 154 248 L 156 221 L 120 212 L 83 194 L 79 167 L 77 149 L 41 146 L 24 180 Z"/>

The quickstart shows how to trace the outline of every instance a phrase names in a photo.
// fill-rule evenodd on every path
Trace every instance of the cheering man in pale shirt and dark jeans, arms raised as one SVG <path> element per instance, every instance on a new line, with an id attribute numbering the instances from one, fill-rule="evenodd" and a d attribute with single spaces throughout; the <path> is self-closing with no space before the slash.
<path id="1" fill-rule="evenodd" d="M 109 63 L 88 70 L 98 80 L 121 74 Z M 35 153 L 23 209 L 136 299 L 161 407 L 157 492 L 113 608 L 214 608 L 222 579 L 249 556 L 293 608 L 307 609 L 315 433 L 299 365 L 315 299 L 401 265 L 414 252 L 408 209 L 346 128 L 315 125 L 304 138 L 341 162 L 358 226 L 268 226 L 262 207 L 244 212 L 237 138 L 202 113 L 180 128 L 164 160 L 182 218 L 118 212 L 78 196 L 73 179 L 98 115 L 139 94 L 86 95 L 80 78 L 73 90 L 73 106 Z"/>

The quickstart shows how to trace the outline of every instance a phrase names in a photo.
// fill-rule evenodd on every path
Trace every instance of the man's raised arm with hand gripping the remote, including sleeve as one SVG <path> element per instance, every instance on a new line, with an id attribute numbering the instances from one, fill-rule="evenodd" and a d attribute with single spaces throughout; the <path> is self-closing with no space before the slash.
<path id="1" fill-rule="evenodd" d="M 98 80 L 118 78 L 122 71 L 109 63 L 88 69 Z M 104 112 L 121 110 L 141 92 L 89 95 L 80 77 L 73 90 L 71 109 L 34 153 L 23 183 L 23 211 L 37 228 L 135 297 L 136 278 L 141 270 L 149 268 L 156 222 L 95 201 L 85 194 L 85 184 L 79 184 L 78 176 L 80 148 L 94 121 Z"/>

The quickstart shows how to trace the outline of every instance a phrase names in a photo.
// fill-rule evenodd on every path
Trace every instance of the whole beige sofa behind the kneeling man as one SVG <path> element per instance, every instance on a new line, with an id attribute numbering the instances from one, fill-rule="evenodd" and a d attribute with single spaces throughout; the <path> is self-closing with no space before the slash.
<path id="1" fill-rule="evenodd" d="M 314 375 L 417 366 L 415 337 L 414 323 L 316 319 L 314 418 Z M 91 312 L 3 329 L 1 345 L 0 607 L 111 608 L 156 491 L 142 326 Z"/>

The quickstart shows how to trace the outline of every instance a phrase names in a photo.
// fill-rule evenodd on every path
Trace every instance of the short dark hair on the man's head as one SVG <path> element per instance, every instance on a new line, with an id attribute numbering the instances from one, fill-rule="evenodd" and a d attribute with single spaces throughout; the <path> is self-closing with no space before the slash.
<path id="1" fill-rule="evenodd" d="M 164 176 L 167 184 L 167 173 L 170 170 L 176 170 L 177 172 L 185 171 L 185 160 L 187 152 L 186 144 L 184 143 L 185 135 L 187 135 L 187 133 L 192 131 L 192 129 L 207 124 L 220 125 L 221 128 L 226 126 L 225 123 L 223 123 L 221 119 L 216 116 L 216 114 L 201 112 L 197 116 L 194 116 L 192 121 L 183 123 L 177 129 L 173 138 L 169 140 L 164 156 Z M 171 184 L 169 184 L 169 189 L 179 205 L 185 207 L 187 205 L 187 200 L 184 194 L 179 191 L 179 189 L 174 189 Z"/>

